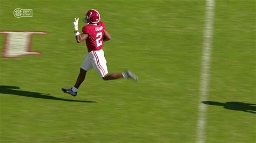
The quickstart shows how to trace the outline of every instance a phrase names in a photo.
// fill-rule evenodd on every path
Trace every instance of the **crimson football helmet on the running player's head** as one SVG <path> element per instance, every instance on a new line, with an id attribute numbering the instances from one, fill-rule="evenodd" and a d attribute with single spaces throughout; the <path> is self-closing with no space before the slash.
<path id="1" fill-rule="evenodd" d="M 91 9 L 87 11 L 85 18 L 83 19 L 84 23 L 98 23 L 100 19 L 99 12 L 97 10 Z"/>

